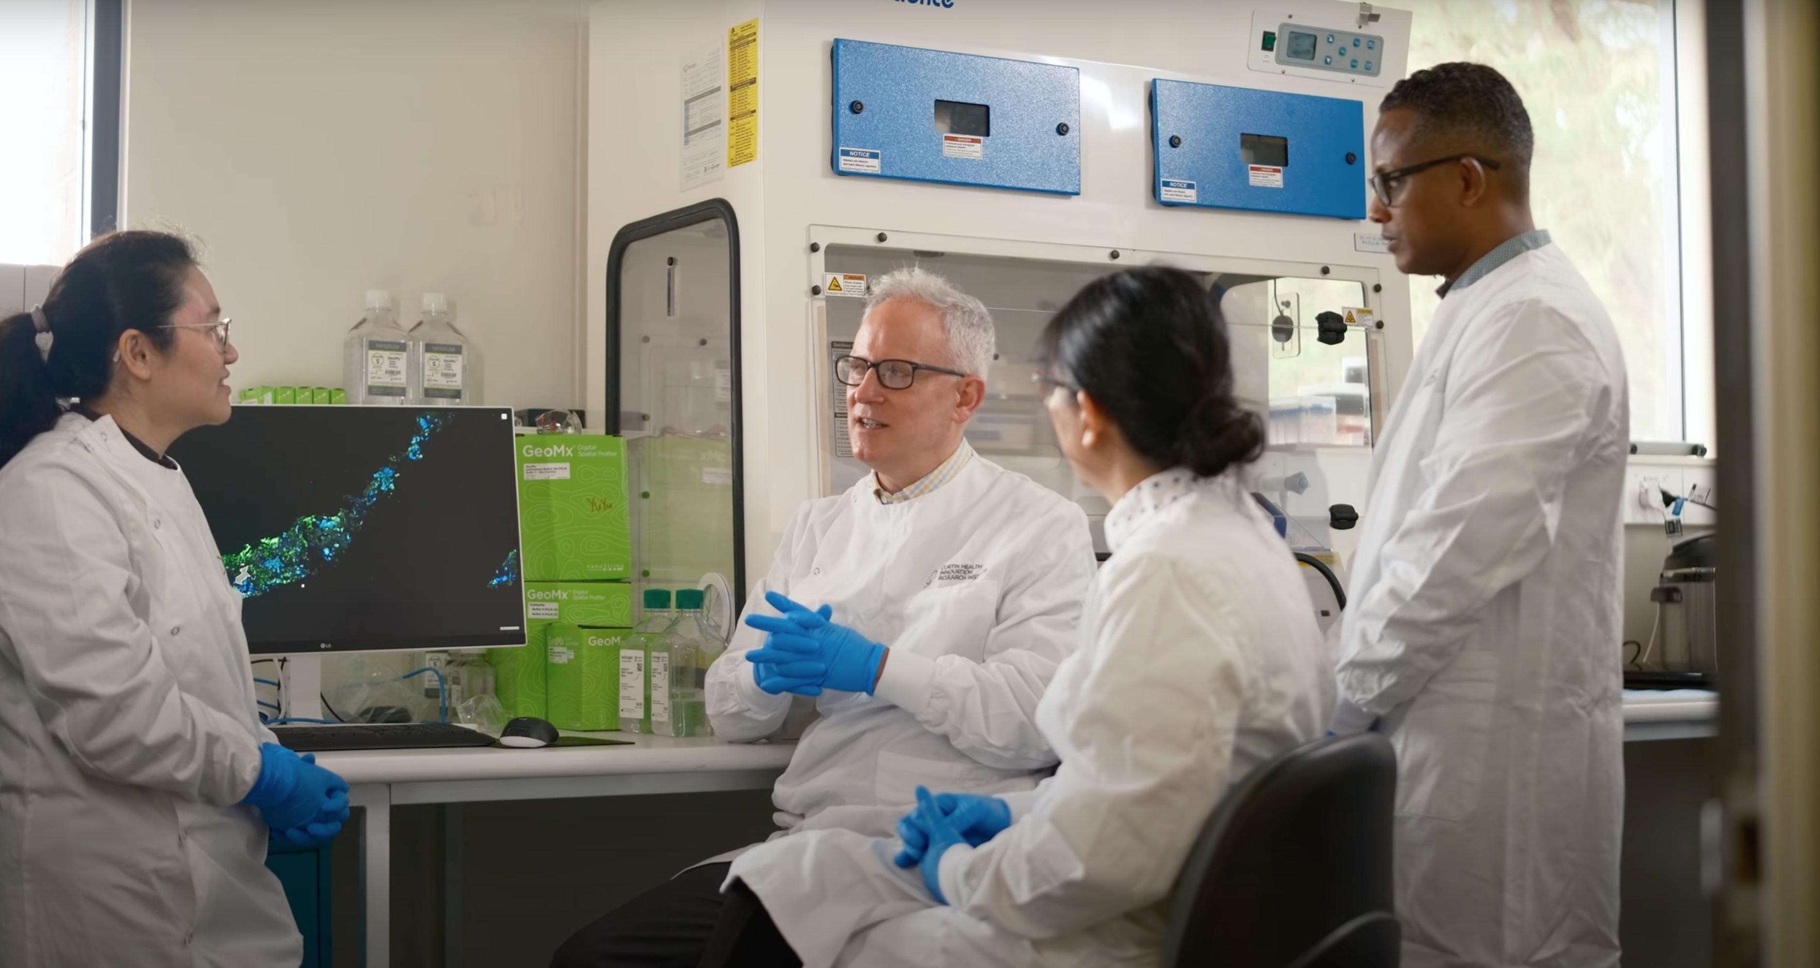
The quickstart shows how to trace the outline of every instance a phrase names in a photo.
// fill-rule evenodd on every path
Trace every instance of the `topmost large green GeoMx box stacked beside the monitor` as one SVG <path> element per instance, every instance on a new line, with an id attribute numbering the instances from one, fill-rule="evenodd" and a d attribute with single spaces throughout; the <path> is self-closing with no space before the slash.
<path id="1" fill-rule="evenodd" d="M 632 577 L 626 442 L 599 435 L 526 435 L 519 464 L 519 551 L 526 582 Z"/>

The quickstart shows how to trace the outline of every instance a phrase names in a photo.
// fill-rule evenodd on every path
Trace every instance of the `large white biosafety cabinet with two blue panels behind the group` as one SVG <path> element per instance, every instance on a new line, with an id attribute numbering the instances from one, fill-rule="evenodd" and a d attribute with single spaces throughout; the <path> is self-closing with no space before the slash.
<path id="1" fill-rule="evenodd" d="M 732 571 L 737 600 L 803 500 L 861 479 L 832 358 L 901 266 L 992 309 L 968 440 L 1096 528 L 1030 349 L 1105 273 L 1196 273 L 1270 426 L 1254 489 L 1350 550 L 1329 508 L 1363 509 L 1410 360 L 1407 280 L 1365 220 L 1409 24 L 1325 0 L 595 4 L 588 409 L 672 482 L 635 499 L 644 579 Z"/>

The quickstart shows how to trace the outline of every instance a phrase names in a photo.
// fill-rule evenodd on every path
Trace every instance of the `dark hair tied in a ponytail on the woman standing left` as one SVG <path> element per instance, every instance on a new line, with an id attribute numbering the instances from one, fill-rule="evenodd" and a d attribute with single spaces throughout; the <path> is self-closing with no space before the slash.
<path id="1" fill-rule="evenodd" d="M 49 353 L 38 348 L 33 313 L 0 320 L 0 466 L 51 429 L 60 398 L 96 400 L 113 386 L 120 333 L 138 329 L 169 349 L 184 275 L 197 267 L 187 240 L 162 231 L 116 231 L 89 242 L 51 282 L 40 309 Z"/>

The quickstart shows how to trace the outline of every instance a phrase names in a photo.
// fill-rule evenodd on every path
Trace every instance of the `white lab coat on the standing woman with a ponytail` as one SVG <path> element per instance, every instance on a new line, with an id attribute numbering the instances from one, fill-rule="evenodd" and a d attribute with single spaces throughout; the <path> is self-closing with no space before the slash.
<path id="1" fill-rule="evenodd" d="M 0 968 L 295 968 L 240 597 L 182 471 L 64 415 L 0 469 Z"/>

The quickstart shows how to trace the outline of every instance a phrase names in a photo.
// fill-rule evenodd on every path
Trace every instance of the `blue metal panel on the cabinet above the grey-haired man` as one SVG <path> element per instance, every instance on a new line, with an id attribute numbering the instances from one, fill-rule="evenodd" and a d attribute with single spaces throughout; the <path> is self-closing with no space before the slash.
<path id="1" fill-rule="evenodd" d="M 937 131 L 937 100 L 990 107 L 988 135 Z M 1079 195 L 1081 73 L 835 40 L 830 164 L 837 175 Z"/>

